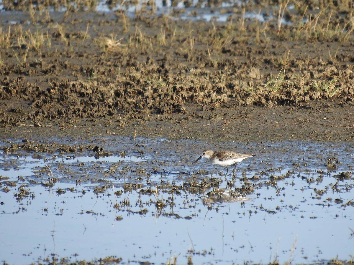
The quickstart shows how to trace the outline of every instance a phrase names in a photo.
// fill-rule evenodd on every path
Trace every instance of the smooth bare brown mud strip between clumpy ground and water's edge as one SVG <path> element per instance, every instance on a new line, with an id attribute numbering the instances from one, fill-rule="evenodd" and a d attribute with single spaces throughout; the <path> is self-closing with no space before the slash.
<path id="1" fill-rule="evenodd" d="M 237 107 L 211 112 L 194 110 L 194 116 L 183 114 L 150 114 L 148 120 L 126 121 L 120 117 L 86 120 L 44 120 L 0 128 L 2 139 L 63 139 L 105 135 L 201 139 L 218 142 L 320 141 L 352 142 L 353 107 L 316 102 L 311 107 L 278 106 L 273 108 Z M 192 108 L 192 107 L 191 107 Z M 319 110 L 321 109 L 321 110 Z M 192 112 L 192 111 L 190 111 Z"/>

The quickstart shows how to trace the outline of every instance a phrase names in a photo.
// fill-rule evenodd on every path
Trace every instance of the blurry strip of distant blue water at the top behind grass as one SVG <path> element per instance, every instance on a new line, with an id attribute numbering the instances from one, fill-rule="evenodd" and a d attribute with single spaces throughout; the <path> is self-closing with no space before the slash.
<path id="1" fill-rule="evenodd" d="M 74 3 L 74 5 L 76 5 Z M 34 5 L 36 8 L 36 5 Z M 237 12 L 235 12 L 235 10 Z M 0 12 L 2 14 L 11 14 L 14 11 L 4 11 L 5 7 L 2 5 L 0 0 Z M 293 10 L 294 6 L 288 6 L 288 10 Z M 54 10 L 53 7 L 48 7 L 48 10 L 53 14 L 58 14 L 60 19 L 62 13 L 67 11 L 67 8 L 64 6 Z M 97 6 L 94 8 L 94 11 L 99 13 L 114 14 L 114 12 L 123 11 L 129 17 L 136 17 L 136 14 L 141 11 L 146 11 L 151 15 L 157 16 L 170 16 L 173 19 L 183 19 L 191 21 L 213 21 L 213 22 L 227 22 L 228 20 L 235 19 L 245 19 L 245 20 L 255 20 L 259 22 L 278 22 L 278 17 L 273 15 L 272 10 L 275 10 L 275 13 L 278 14 L 279 7 L 267 7 L 263 10 L 254 10 L 252 12 L 242 12 L 242 2 L 239 0 L 233 1 L 221 1 L 216 5 L 208 6 L 207 1 L 192 1 L 188 3 L 188 6 L 185 6 L 184 1 L 179 1 L 176 6 L 172 5 L 172 2 L 156 0 L 153 2 L 150 1 L 120 1 L 115 5 L 108 5 L 107 1 L 98 1 Z M 114 19 L 114 17 L 112 17 Z M 21 23 L 17 20 L 8 20 L 9 24 Z M 306 22 L 306 20 L 304 20 Z M 29 22 L 28 22 L 29 23 Z M 286 18 L 281 18 L 281 24 L 292 24 Z"/>

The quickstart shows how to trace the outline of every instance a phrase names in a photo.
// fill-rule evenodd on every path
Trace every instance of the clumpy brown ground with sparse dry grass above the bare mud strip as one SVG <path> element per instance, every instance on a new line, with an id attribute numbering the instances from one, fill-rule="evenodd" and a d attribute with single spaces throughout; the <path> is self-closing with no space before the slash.
<path id="1" fill-rule="evenodd" d="M 284 1 L 274 9 L 274 21 L 256 23 L 245 18 L 249 6 L 240 19 L 223 24 L 152 18 L 144 13 L 147 5 L 139 6 L 134 21 L 117 12 L 115 21 L 92 24 L 85 13 L 75 14 L 96 4 L 67 3 L 64 19 L 50 27 L 0 25 L 0 96 L 32 102 L 30 110 L 22 108 L 24 119 L 40 124 L 119 113 L 126 121 L 183 113 L 189 103 L 215 110 L 229 106 L 230 99 L 238 106 L 267 107 L 353 99 L 348 45 L 354 41 L 354 8 L 349 3 L 319 5 L 314 12 L 300 1 Z M 8 1 L 4 6 L 19 9 Z M 28 19 L 52 25 L 46 5 L 22 8 Z M 254 8 L 261 16 L 262 9 Z M 341 19 L 339 12 L 344 12 Z M 285 50 L 284 41 L 290 41 Z M 313 52 L 313 46 L 325 52 Z M 19 122 L 10 118 L 19 113 L 4 114 L 3 124 Z"/>

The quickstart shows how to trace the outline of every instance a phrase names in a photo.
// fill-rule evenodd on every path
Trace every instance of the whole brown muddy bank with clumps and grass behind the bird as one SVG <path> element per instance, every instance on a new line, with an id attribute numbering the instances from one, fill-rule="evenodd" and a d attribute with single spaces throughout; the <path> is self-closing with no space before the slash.
<path id="1" fill-rule="evenodd" d="M 281 27 L 1 12 L 1 138 L 354 141 L 350 12 L 310 11 Z"/>

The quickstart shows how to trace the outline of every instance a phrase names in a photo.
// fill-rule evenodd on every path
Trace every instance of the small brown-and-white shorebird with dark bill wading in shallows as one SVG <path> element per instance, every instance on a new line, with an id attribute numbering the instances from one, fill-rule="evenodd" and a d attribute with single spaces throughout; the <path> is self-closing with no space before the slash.
<path id="1" fill-rule="evenodd" d="M 205 149 L 201 156 L 196 160 L 198 161 L 201 158 L 207 158 L 211 161 L 211 163 L 216 164 L 216 165 L 221 165 L 221 166 L 226 166 L 226 174 L 229 172 L 229 169 L 227 166 L 229 165 L 235 165 L 234 170 L 232 171 L 233 175 L 235 176 L 235 169 L 237 166 L 237 163 L 241 162 L 245 158 L 248 157 L 254 157 L 255 154 L 240 154 L 240 153 L 235 153 L 232 151 L 211 151 L 210 149 Z M 196 162 L 195 161 L 195 162 Z"/>

